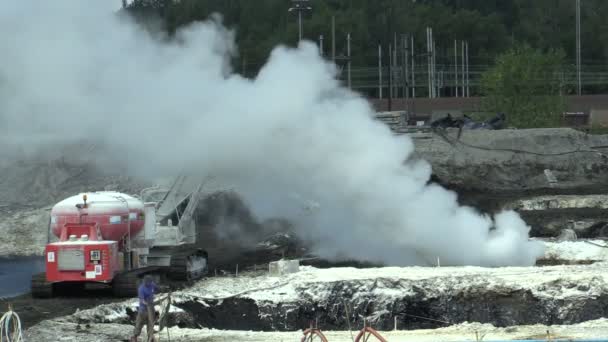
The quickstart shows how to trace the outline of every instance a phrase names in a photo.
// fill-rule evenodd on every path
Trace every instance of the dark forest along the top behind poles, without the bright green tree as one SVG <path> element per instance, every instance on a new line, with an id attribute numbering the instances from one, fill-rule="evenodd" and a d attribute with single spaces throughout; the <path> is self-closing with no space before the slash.
<path id="1" fill-rule="evenodd" d="M 453 41 L 467 40 L 471 65 L 493 64 L 495 58 L 516 44 L 563 50 L 575 60 L 574 0 L 311 0 L 304 20 L 305 39 L 325 37 L 329 51 L 331 18 L 336 22 L 338 54 L 345 52 L 345 37 L 352 36 L 353 66 L 375 65 L 378 44 L 392 43 L 394 33 L 414 35 L 416 48 L 426 46 L 426 27 L 432 27 L 438 58 L 453 56 Z M 582 1 L 582 59 L 601 65 L 608 57 L 608 30 L 604 14 L 608 1 Z M 193 21 L 220 13 L 236 30 L 240 51 L 238 65 L 251 68 L 264 63 L 278 44 L 295 45 L 298 25 L 288 13 L 289 0 L 135 0 L 134 13 L 155 12 L 164 28 L 173 33 Z"/>

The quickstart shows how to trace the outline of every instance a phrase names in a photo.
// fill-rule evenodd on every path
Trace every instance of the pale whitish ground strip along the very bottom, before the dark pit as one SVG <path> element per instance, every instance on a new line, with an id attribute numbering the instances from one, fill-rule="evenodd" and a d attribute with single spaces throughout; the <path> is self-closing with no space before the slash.
<path id="1" fill-rule="evenodd" d="M 132 326 L 124 324 L 91 324 L 78 325 L 57 321 L 45 321 L 29 329 L 26 333 L 28 341 L 91 341 L 106 342 L 126 339 L 132 331 Z M 387 331 L 380 332 L 391 342 L 426 342 L 426 341 L 474 341 L 477 333 L 484 340 L 515 340 L 515 339 L 545 339 L 547 331 L 550 337 L 570 339 L 593 339 L 605 337 L 608 333 L 608 320 L 598 319 L 574 325 L 527 325 L 497 328 L 491 324 L 463 323 L 441 329 Z M 324 331 L 331 342 L 352 342 L 348 331 Z M 259 331 L 226 331 L 217 329 L 188 329 L 172 327 L 169 335 L 162 331 L 163 339 L 171 337 L 171 341 L 205 341 L 205 342 L 266 342 L 266 341 L 299 341 L 301 331 L 293 332 L 259 332 Z"/>

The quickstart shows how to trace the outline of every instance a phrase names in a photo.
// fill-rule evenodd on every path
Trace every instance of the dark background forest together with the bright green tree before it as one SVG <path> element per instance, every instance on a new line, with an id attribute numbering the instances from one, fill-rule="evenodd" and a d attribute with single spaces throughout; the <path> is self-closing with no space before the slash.
<path id="1" fill-rule="evenodd" d="M 466 40 L 469 64 L 484 66 L 477 95 L 484 95 L 488 112 L 505 111 L 510 124 L 543 127 L 559 124 L 565 109 L 561 95 L 572 94 L 560 73 L 572 71 L 576 59 L 575 0 L 311 0 L 303 36 L 325 37 L 331 47 L 335 18 L 336 54 L 345 54 L 351 34 L 353 67 L 377 65 L 378 45 L 393 43 L 394 35 L 410 34 L 415 49 L 426 49 L 426 28 L 433 28 L 437 63 L 450 64 L 454 40 Z M 172 35 L 181 27 L 222 15 L 236 31 L 239 56 L 235 69 L 254 75 L 278 44 L 298 42 L 297 18 L 289 0 L 134 0 L 134 16 L 160 19 Z M 608 57 L 608 1 L 581 1 L 583 70 L 601 70 Z M 158 24 L 155 21 L 155 24 Z M 605 86 L 587 92 L 598 93 Z"/>

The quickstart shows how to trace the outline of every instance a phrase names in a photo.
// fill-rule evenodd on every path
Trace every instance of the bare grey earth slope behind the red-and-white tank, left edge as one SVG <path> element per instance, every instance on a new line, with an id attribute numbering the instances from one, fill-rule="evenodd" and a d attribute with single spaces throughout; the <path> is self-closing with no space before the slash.
<path id="1" fill-rule="evenodd" d="M 86 160 L 50 156 L 0 163 L 0 256 L 40 255 L 54 203 L 91 190 L 138 193 L 143 184 Z"/>

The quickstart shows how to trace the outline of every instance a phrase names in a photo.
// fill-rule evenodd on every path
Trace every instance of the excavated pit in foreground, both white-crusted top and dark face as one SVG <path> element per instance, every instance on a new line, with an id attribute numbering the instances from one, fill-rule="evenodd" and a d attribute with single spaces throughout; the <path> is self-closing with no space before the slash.
<path id="1" fill-rule="evenodd" d="M 211 277 L 173 294 L 169 326 L 295 331 L 370 324 L 392 330 L 463 322 L 496 327 L 576 324 L 608 315 L 606 263 L 546 267 L 329 268 L 270 277 Z M 133 324 L 135 301 L 108 304 L 66 322 Z"/>

